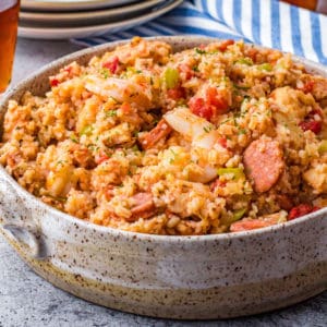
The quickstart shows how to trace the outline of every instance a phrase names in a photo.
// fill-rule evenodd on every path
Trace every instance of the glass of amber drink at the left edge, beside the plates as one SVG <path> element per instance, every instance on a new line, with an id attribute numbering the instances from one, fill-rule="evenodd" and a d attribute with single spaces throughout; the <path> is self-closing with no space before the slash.
<path id="1" fill-rule="evenodd" d="M 0 0 L 0 94 L 11 81 L 19 11 L 20 0 Z"/>

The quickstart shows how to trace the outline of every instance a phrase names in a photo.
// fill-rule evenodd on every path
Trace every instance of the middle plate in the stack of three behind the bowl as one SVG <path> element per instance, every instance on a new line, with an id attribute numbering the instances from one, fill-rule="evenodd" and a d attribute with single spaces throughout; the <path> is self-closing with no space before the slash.
<path id="1" fill-rule="evenodd" d="M 0 0 L 1 1 L 1 0 Z M 26 23 L 28 25 L 32 24 L 43 24 L 53 25 L 60 24 L 59 26 L 73 26 L 78 24 L 81 25 L 89 25 L 90 23 L 104 23 L 107 22 L 117 22 L 122 17 L 126 17 L 131 15 L 136 15 L 140 12 L 145 10 L 154 9 L 156 5 L 159 5 L 161 2 L 166 0 L 148 0 L 142 1 L 140 3 L 134 3 L 131 5 L 124 5 L 121 8 L 111 8 L 111 9 L 100 9 L 94 11 L 82 11 L 82 12 L 28 12 L 21 11 L 20 20 L 22 23 Z"/>

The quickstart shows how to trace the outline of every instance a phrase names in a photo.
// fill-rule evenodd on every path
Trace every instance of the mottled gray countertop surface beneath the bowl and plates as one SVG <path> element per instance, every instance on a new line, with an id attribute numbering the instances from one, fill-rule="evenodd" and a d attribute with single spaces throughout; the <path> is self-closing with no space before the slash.
<path id="1" fill-rule="evenodd" d="M 69 41 L 20 39 L 13 84 L 49 61 L 78 50 Z M 292 307 L 223 322 L 173 322 L 105 308 L 35 275 L 0 235 L 0 327 L 9 326 L 327 326 L 327 292 Z"/>

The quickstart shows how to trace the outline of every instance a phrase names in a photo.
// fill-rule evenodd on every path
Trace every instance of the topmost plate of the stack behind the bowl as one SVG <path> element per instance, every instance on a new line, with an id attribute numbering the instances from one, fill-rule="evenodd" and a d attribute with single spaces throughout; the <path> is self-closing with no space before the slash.
<path id="1" fill-rule="evenodd" d="M 21 8 L 34 11 L 73 11 L 120 7 L 136 1 L 140 2 L 140 0 L 21 0 Z"/>

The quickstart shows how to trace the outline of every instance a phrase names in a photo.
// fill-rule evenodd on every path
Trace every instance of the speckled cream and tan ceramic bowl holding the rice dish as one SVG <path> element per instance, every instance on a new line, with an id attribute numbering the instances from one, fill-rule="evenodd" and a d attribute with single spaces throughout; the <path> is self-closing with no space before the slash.
<path id="1" fill-rule="evenodd" d="M 161 38 L 162 39 L 162 38 Z M 174 49 L 208 38 L 168 37 Z M 43 95 L 47 77 L 72 60 L 86 63 L 118 44 L 60 59 L 22 82 Z M 301 60 L 311 71 L 326 69 Z M 1 125 L 0 121 L 0 125 Z M 327 209 L 250 232 L 162 237 L 75 219 L 23 190 L 0 167 L 0 231 L 40 276 L 88 301 L 156 317 L 207 319 L 261 313 L 327 289 Z"/>

